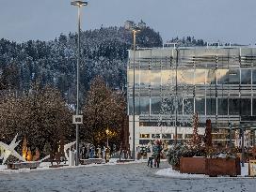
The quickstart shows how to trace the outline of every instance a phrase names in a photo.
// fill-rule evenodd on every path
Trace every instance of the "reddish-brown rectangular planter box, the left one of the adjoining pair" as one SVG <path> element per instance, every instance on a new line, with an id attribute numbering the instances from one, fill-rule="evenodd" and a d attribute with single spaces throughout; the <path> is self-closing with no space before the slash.
<path id="1" fill-rule="evenodd" d="M 180 163 L 181 173 L 205 174 L 205 157 L 182 157 Z"/>

